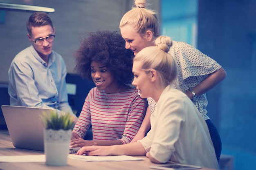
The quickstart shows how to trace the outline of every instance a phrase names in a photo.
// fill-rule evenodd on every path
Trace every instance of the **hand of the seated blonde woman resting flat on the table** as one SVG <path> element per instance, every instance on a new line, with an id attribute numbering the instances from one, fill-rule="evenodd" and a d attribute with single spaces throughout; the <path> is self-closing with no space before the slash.
<path id="1" fill-rule="evenodd" d="M 83 146 L 76 155 L 108 156 L 111 155 L 113 146 Z"/>

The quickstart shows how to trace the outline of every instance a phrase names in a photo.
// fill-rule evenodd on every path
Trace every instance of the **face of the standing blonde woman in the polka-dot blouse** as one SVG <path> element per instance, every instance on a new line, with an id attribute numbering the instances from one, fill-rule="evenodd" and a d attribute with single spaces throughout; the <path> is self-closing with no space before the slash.
<path id="1" fill-rule="evenodd" d="M 145 47 L 153 46 L 151 42 L 152 37 L 148 37 L 147 33 L 145 37 L 141 37 L 139 33 L 130 24 L 126 24 L 120 28 L 121 35 L 126 41 L 125 48 L 133 51 L 136 56 L 140 50 Z"/>

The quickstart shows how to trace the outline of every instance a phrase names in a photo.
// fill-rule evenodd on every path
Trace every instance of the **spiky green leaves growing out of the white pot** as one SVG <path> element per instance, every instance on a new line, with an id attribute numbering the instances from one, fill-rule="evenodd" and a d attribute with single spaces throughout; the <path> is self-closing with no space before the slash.
<path id="1" fill-rule="evenodd" d="M 63 111 L 60 114 L 54 110 L 50 111 L 49 114 L 43 112 L 41 119 L 45 124 L 45 129 L 69 130 L 73 127 L 72 116 Z"/>

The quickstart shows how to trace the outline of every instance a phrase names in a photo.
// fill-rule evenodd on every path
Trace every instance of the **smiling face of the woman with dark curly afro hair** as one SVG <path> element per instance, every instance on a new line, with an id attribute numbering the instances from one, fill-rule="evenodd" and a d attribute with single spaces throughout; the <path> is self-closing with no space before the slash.
<path id="1" fill-rule="evenodd" d="M 97 89 L 105 90 L 106 93 L 114 93 L 112 91 L 116 91 L 113 89 L 113 87 L 116 87 L 114 85 L 116 83 L 115 78 L 106 65 L 92 61 L 91 75 Z"/>

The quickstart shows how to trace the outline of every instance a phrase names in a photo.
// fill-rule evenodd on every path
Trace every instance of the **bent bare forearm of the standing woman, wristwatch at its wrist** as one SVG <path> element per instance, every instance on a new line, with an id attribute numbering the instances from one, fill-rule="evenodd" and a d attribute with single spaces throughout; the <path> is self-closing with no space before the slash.
<path id="1" fill-rule="evenodd" d="M 207 78 L 205 78 L 201 83 L 196 85 L 195 87 L 191 87 L 197 96 L 201 96 L 202 94 L 208 92 L 218 83 L 226 78 L 226 72 L 223 68 L 220 68 L 216 72 L 209 74 Z M 191 99 L 193 96 L 191 92 L 188 90 L 185 94 Z"/>

